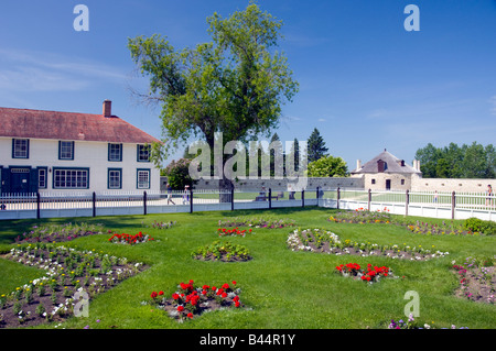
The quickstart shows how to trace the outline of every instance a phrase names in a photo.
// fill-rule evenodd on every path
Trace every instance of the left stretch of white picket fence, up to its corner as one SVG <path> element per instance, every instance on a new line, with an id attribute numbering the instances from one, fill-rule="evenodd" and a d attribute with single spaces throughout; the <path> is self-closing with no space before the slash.
<path id="1" fill-rule="evenodd" d="M 270 198 L 269 198 L 270 193 Z M 0 194 L 0 220 L 316 206 L 316 190 L 202 190 Z"/>

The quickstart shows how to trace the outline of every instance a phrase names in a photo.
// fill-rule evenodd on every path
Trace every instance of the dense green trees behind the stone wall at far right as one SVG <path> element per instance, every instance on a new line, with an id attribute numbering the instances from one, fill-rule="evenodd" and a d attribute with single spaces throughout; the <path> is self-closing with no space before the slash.
<path id="1" fill-rule="evenodd" d="M 435 147 L 429 143 L 417 151 L 416 158 L 425 178 L 496 178 L 496 150 L 492 144 Z"/>

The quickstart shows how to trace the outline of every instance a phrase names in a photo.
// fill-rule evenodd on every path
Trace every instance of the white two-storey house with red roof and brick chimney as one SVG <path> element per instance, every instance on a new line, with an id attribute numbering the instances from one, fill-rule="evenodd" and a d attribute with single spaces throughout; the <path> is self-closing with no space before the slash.
<path id="1" fill-rule="evenodd" d="M 160 142 L 111 114 L 0 108 L 0 193 L 160 190 Z"/>

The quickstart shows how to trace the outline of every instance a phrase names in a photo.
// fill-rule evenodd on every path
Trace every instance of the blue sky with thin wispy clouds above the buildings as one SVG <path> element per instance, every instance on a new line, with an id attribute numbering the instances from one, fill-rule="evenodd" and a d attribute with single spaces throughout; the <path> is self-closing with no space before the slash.
<path id="1" fill-rule="evenodd" d="M 76 4 L 89 31 L 76 32 Z M 407 32 L 407 4 L 420 31 Z M 145 89 L 128 37 L 160 33 L 177 48 L 209 41 L 206 18 L 248 1 L 14 1 L 0 3 L 0 106 L 112 111 L 160 138 L 159 111 L 140 105 Z M 300 91 L 283 107 L 282 141 L 314 128 L 330 153 L 353 169 L 387 149 L 408 163 L 418 149 L 496 144 L 496 0 L 259 0 L 283 21 L 284 51 Z M 181 151 L 182 152 L 182 151 Z M 180 153 L 181 154 L 181 153 Z M 173 157 L 176 157 L 174 155 Z"/>

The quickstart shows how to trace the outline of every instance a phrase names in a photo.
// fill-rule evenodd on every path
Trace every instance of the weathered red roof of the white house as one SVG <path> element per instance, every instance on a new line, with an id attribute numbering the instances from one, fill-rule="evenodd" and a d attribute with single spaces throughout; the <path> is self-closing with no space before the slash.
<path id="1" fill-rule="evenodd" d="M 0 136 L 153 143 L 158 139 L 118 117 L 0 108 Z"/>

